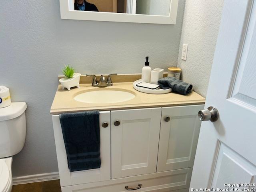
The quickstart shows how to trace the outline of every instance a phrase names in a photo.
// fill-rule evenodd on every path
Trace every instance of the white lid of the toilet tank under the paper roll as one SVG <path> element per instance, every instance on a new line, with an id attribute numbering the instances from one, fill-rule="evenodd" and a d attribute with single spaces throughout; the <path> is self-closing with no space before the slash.
<path id="1" fill-rule="evenodd" d="M 22 115 L 26 108 L 25 102 L 12 102 L 8 107 L 0 108 L 0 121 L 14 119 Z"/>

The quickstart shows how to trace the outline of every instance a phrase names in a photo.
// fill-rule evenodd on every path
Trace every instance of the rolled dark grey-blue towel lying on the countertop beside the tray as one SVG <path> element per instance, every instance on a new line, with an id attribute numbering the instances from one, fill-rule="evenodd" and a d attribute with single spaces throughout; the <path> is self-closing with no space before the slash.
<path id="1" fill-rule="evenodd" d="M 172 90 L 182 95 L 187 95 L 191 93 L 193 88 L 191 84 L 183 82 L 182 80 L 176 79 L 174 77 L 164 77 L 158 80 L 158 84 L 162 89 L 172 88 Z"/>

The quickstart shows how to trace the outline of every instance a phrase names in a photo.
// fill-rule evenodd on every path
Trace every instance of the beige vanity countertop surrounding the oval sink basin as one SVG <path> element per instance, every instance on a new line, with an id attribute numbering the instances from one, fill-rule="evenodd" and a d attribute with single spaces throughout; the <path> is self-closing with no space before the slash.
<path id="1" fill-rule="evenodd" d="M 205 98 L 192 92 L 187 96 L 174 92 L 168 94 L 146 94 L 138 92 L 133 88 L 132 82 L 113 83 L 113 86 L 106 88 L 92 87 L 91 84 L 80 84 L 80 88 L 72 88 L 71 91 L 62 89 L 59 85 L 52 102 L 51 114 L 60 114 L 64 112 L 79 112 L 84 110 L 120 110 L 130 108 L 148 108 L 148 107 L 166 107 L 166 106 L 182 106 L 192 104 L 204 104 Z M 74 97 L 88 90 L 125 90 L 135 95 L 132 100 L 111 103 L 111 104 L 93 104 L 84 103 L 74 100 Z M 104 97 L 104 95 L 102 95 Z"/>

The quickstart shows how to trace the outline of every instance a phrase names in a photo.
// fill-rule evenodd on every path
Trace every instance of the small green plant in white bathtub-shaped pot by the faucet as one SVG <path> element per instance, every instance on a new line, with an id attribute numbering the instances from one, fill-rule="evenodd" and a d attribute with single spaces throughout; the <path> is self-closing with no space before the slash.
<path id="1" fill-rule="evenodd" d="M 79 82 L 80 82 L 80 73 L 75 73 L 74 68 L 70 67 L 69 65 L 66 65 L 62 69 L 62 74 L 66 77 L 61 78 L 59 82 L 62 85 L 62 89 L 67 88 L 70 91 L 71 87 L 77 87 L 80 88 Z"/>

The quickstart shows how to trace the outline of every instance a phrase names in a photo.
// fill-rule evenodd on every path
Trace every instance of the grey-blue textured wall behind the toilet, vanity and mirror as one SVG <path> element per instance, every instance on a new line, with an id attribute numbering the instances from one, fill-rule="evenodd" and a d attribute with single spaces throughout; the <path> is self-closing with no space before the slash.
<path id="1" fill-rule="evenodd" d="M 25 101 L 27 135 L 13 176 L 58 171 L 50 106 L 64 64 L 82 74 L 140 73 L 176 66 L 184 0 L 176 25 L 61 20 L 58 0 L 0 0 L 0 84 Z"/>

